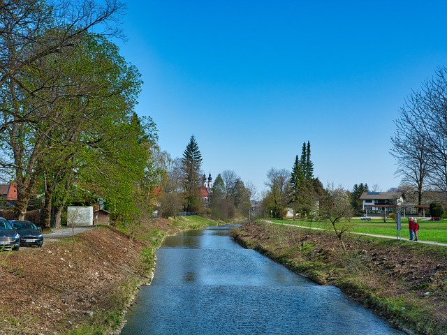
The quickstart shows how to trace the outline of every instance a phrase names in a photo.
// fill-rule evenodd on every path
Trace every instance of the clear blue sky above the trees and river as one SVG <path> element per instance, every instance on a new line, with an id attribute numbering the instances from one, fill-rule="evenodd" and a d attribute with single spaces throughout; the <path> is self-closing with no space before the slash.
<path id="1" fill-rule="evenodd" d="M 314 175 L 352 190 L 398 186 L 393 120 L 447 66 L 447 1 L 128 1 L 118 41 L 142 74 L 136 111 L 161 149 L 191 135 L 203 172 L 262 191 L 310 141 Z"/>

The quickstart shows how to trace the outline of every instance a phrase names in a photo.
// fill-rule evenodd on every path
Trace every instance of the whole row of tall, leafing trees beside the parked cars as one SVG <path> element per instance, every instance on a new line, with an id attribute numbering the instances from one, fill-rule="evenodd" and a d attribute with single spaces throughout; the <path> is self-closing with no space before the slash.
<path id="1" fill-rule="evenodd" d="M 123 221 L 148 210 L 156 128 L 133 112 L 140 73 L 109 39 L 120 34 L 110 24 L 123 8 L 0 4 L 0 171 L 17 183 L 17 218 L 36 195 L 45 198 L 44 229 L 87 198 L 105 198 Z"/>

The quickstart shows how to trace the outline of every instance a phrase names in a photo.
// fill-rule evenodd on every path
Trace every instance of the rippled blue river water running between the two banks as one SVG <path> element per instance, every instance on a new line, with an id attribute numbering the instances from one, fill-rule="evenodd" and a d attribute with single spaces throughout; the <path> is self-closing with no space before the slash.
<path id="1" fill-rule="evenodd" d="M 294 274 L 209 227 L 167 237 L 122 335 L 404 334 L 333 286 Z"/>

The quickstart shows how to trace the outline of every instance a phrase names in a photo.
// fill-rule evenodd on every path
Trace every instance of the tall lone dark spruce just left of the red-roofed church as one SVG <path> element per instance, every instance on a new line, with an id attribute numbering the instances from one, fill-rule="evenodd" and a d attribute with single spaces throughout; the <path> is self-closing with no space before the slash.
<path id="1" fill-rule="evenodd" d="M 194 211 L 200 204 L 200 166 L 202 155 L 198 149 L 196 137 L 191 135 L 189 143 L 183 153 L 182 171 L 184 173 L 184 195 L 186 200 L 186 211 Z"/>

